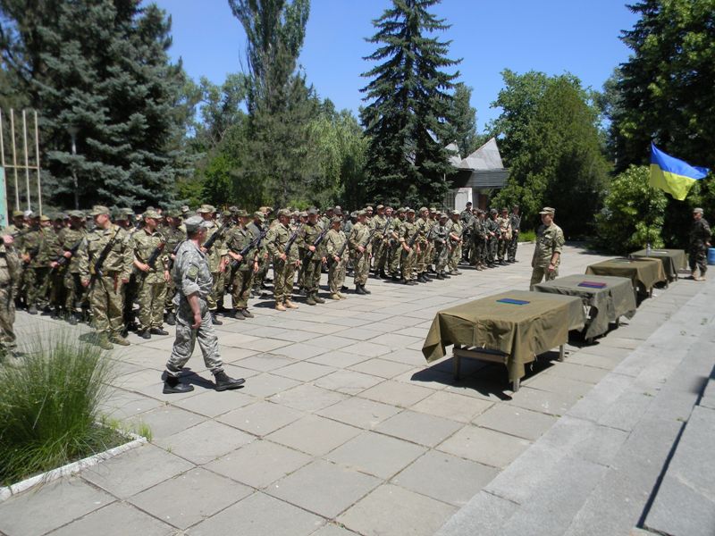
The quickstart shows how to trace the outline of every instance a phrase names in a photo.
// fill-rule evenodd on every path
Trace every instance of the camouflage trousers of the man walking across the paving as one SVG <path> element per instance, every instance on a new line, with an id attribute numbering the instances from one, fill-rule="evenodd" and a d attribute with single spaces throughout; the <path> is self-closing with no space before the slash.
<path id="1" fill-rule="evenodd" d="M 198 340 L 198 348 L 204 356 L 204 364 L 212 373 L 223 371 L 223 360 L 218 353 L 218 339 L 214 331 L 214 322 L 205 299 L 198 300 L 201 309 L 201 325 L 198 330 L 191 328 L 194 323 L 194 314 L 185 297 L 176 311 L 176 338 L 173 340 L 172 355 L 166 362 L 166 372 L 174 378 L 181 375 L 181 368 L 189 361 Z"/>

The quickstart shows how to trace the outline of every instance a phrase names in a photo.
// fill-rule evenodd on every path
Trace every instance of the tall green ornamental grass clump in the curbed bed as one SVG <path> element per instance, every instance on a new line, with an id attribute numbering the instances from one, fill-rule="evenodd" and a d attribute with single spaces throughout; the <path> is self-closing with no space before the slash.
<path id="1" fill-rule="evenodd" d="M 113 377 L 105 352 L 77 333 L 38 334 L 28 353 L 0 362 L 0 484 L 71 463 L 126 442 L 100 423 Z"/>

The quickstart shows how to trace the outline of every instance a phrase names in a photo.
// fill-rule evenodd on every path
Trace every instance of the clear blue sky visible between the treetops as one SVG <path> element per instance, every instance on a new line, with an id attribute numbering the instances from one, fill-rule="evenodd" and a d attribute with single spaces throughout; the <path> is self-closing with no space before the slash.
<path id="1" fill-rule="evenodd" d="M 156 0 L 172 15 L 173 59 L 189 76 L 221 83 L 240 71 L 246 38 L 226 0 Z M 374 46 L 372 21 L 389 0 L 312 0 L 300 63 L 321 97 L 357 113 L 362 104 L 362 58 Z M 619 0 L 443 0 L 433 12 L 452 27 L 450 57 L 462 58 L 460 81 L 473 88 L 479 129 L 498 115 L 490 109 L 502 88 L 500 72 L 570 71 L 586 87 L 601 89 L 613 69 L 627 60 L 618 36 L 636 21 Z"/>

